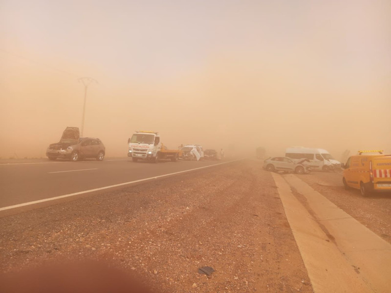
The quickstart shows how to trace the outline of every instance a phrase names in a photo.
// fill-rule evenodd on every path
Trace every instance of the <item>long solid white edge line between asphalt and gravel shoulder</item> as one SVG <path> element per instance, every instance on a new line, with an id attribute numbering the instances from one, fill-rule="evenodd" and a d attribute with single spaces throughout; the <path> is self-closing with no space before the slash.
<path id="1" fill-rule="evenodd" d="M 194 169 L 189 169 L 189 170 L 184 170 L 184 171 L 179 171 L 179 172 L 174 172 L 174 173 L 169 173 L 169 174 L 164 174 L 164 175 L 159 175 L 159 176 L 154 176 L 154 177 L 150 177 L 150 178 L 139 179 L 139 180 L 125 182 L 125 183 L 120 183 L 120 184 L 114 184 L 114 185 L 105 186 L 105 187 L 101 187 L 101 188 L 94 188 L 94 189 L 89 189 L 89 190 L 69 193 L 69 194 L 65 194 L 65 195 L 60 195 L 60 196 L 40 199 L 40 200 L 28 202 L 28 203 L 23 203 L 23 204 L 19 204 L 19 205 L 14 205 L 14 206 L 8 206 L 8 207 L 0 208 L 0 211 L 6 210 L 6 209 L 15 209 L 15 208 L 20 208 L 20 207 L 30 206 L 30 205 L 34 205 L 34 204 L 44 203 L 44 202 L 51 201 L 51 200 L 56 200 L 56 199 L 60 199 L 60 198 L 75 196 L 75 195 L 84 194 L 84 193 L 93 192 L 93 191 L 98 191 L 98 190 L 109 189 L 109 188 L 118 187 L 118 186 L 124 186 L 124 185 L 137 183 L 137 182 L 143 182 L 143 181 L 147 181 L 147 180 L 151 180 L 151 179 L 162 178 L 162 177 L 166 177 L 166 176 L 170 176 L 170 175 L 175 175 L 175 174 L 190 172 L 190 171 L 199 170 L 199 169 L 203 169 L 203 168 L 208 168 L 208 167 L 223 165 L 223 164 L 227 164 L 227 163 L 237 162 L 237 161 L 240 161 L 240 160 L 243 160 L 243 159 L 233 160 L 233 161 L 228 161 L 228 162 L 223 162 L 223 163 L 218 163 L 218 164 L 204 166 L 204 167 L 198 167 L 198 168 L 194 168 Z"/>

